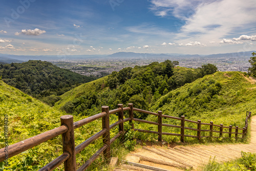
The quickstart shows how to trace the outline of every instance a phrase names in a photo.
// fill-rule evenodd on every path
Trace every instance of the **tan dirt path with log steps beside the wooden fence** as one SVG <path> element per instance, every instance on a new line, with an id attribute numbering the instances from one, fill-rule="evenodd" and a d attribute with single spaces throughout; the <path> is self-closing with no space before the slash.
<path id="1" fill-rule="evenodd" d="M 166 146 L 143 146 L 131 152 L 127 159 L 131 162 L 150 165 L 165 170 L 184 170 L 207 163 L 209 159 L 219 162 L 241 157 L 241 151 L 256 153 L 256 116 L 251 118 L 251 139 L 249 144 L 217 144 L 217 145 L 178 145 L 174 148 Z M 136 160 L 133 160 L 136 159 Z M 151 161 L 154 161 L 151 162 Z M 119 166 L 117 170 L 136 170 Z"/>

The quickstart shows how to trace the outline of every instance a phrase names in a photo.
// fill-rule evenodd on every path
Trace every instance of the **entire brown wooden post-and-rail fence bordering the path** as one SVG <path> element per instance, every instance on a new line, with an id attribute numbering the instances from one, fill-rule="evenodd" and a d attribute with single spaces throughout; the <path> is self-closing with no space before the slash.
<path id="1" fill-rule="evenodd" d="M 94 116 L 88 117 L 86 119 L 82 119 L 77 122 L 73 122 L 73 116 L 72 115 L 65 115 L 60 117 L 61 126 L 50 130 L 48 132 L 39 134 L 37 136 L 34 136 L 32 138 L 26 139 L 24 141 L 20 141 L 18 143 L 15 143 L 13 145 L 10 145 L 8 147 L 8 154 L 5 152 L 5 148 L 0 149 L 0 162 L 4 161 L 6 159 L 6 155 L 8 155 L 8 158 L 15 156 L 17 154 L 20 154 L 24 151 L 26 151 L 29 148 L 32 148 L 33 146 L 36 146 L 42 142 L 45 142 L 49 139 L 52 139 L 58 135 L 62 135 L 62 146 L 63 146 L 63 153 L 51 161 L 46 166 L 39 169 L 42 170 L 53 170 L 57 166 L 59 166 L 61 163 L 64 162 L 65 171 L 74 171 L 76 170 L 76 154 L 82 151 L 82 149 L 86 148 L 89 144 L 94 142 L 96 139 L 102 136 L 103 139 L 103 146 L 89 159 L 87 160 L 83 165 L 81 165 L 77 171 L 86 170 L 91 163 L 97 159 L 97 157 L 100 156 L 100 154 L 103 152 L 103 156 L 107 159 L 110 158 L 110 144 L 112 144 L 118 137 L 121 136 L 123 139 L 124 135 L 124 127 L 123 123 L 129 121 L 132 125 L 132 129 L 134 131 L 138 132 L 144 132 L 144 133 L 153 133 L 158 134 L 158 141 L 162 141 L 162 135 L 172 135 L 172 136 L 180 136 L 181 142 L 184 142 L 184 137 L 195 137 L 200 140 L 200 138 L 203 137 L 212 137 L 212 138 L 219 138 L 222 137 L 223 134 L 228 134 L 228 137 L 230 138 L 232 134 L 234 134 L 235 138 L 238 138 L 238 135 L 242 135 L 242 138 L 245 137 L 247 134 L 247 128 L 248 128 L 248 119 L 251 116 L 251 112 L 246 113 L 246 120 L 245 120 L 245 127 L 242 129 L 238 126 L 232 127 L 232 125 L 229 126 L 223 126 L 223 124 L 216 125 L 213 122 L 210 123 L 202 123 L 201 120 L 198 121 L 192 121 L 185 119 L 184 116 L 179 117 L 173 117 L 168 115 L 162 115 L 161 111 L 158 111 L 158 113 L 148 112 L 141 109 L 133 108 L 133 104 L 129 103 L 129 107 L 123 108 L 123 104 L 118 104 L 118 109 L 114 109 L 109 111 L 109 106 L 102 106 L 101 107 L 102 112 L 99 114 L 96 114 Z M 129 111 L 129 118 L 123 119 L 123 112 Z M 142 119 L 134 118 L 134 111 L 151 114 L 158 116 L 158 122 L 152 122 Z M 118 121 L 110 125 L 110 115 L 118 113 Z M 96 119 L 102 118 L 102 130 L 87 139 L 86 141 L 82 142 L 78 146 L 75 146 L 75 138 L 74 138 L 74 130 L 78 127 L 88 124 Z M 169 118 L 169 119 L 176 119 L 180 120 L 180 125 L 171 125 L 171 124 L 165 124 L 162 123 L 162 118 Z M 137 122 L 144 122 L 149 124 L 158 125 L 158 131 L 148 131 L 148 130 L 139 130 L 134 128 L 133 121 Z M 197 129 L 191 128 L 191 127 L 185 127 L 185 122 L 195 123 L 197 124 Z M 119 133 L 115 135 L 112 139 L 110 139 L 110 130 L 113 129 L 115 126 L 119 126 Z M 209 130 L 202 130 L 201 125 L 209 125 Z M 162 132 L 162 126 L 169 126 L 169 127 L 176 127 L 180 129 L 180 134 L 175 133 L 164 133 Z M 214 130 L 214 126 L 219 128 L 219 131 Z M 228 129 L 228 132 L 224 132 L 223 129 Z M 232 132 L 232 129 L 235 130 L 235 132 Z M 185 130 L 192 130 L 197 132 L 197 136 L 195 135 L 185 135 Z M 242 130 L 242 133 L 239 133 L 239 130 Z M 201 132 L 209 132 L 209 136 L 201 136 Z M 212 136 L 212 133 L 219 133 L 219 137 Z"/>

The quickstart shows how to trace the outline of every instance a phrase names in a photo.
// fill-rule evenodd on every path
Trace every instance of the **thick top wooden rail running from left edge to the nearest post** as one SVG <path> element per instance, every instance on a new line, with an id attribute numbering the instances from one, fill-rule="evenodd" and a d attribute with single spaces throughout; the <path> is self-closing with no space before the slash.
<path id="1" fill-rule="evenodd" d="M 42 142 L 45 142 L 54 137 L 57 137 L 58 135 L 66 133 L 67 131 L 68 131 L 68 127 L 62 125 L 62 126 L 56 127 L 53 130 L 47 131 L 45 133 L 36 135 L 29 139 L 19 141 L 15 144 L 12 144 L 12 145 L 8 146 L 8 157 L 10 158 L 19 153 L 22 153 L 22 152 L 28 150 L 29 148 L 32 148 Z M 5 160 L 5 152 L 4 151 L 5 151 L 5 148 L 0 149 L 0 162 Z"/>

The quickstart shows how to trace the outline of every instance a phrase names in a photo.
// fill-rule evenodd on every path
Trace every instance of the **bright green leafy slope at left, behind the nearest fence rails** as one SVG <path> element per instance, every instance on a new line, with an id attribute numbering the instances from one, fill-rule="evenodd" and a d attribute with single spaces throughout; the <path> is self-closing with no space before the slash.
<path id="1" fill-rule="evenodd" d="M 8 115 L 8 145 L 47 132 L 60 126 L 60 116 L 67 115 L 65 112 L 54 110 L 49 105 L 9 86 L 0 80 L 0 148 L 3 148 L 5 142 L 4 117 Z M 74 116 L 74 121 L 81 120 L 84 117 Z M 111 124 L 118 118 L 111 116 Z M 75 144 L 78 145 L 102 129 L 101 120 L 93 121 L 87 125 L 75 130 Z M 118 127 L 111 131 L 111 138 L 118 133 Z M 41 143 L 22 154 L 8 159 L 9 167 L 4 170 L 38 170 L 62 153 L 61 136 Z M 114 145 L 114 144 L 113 144 Z M 93 144 L 89 145 L 84 151 L 76 155 L 78 165 L 88 160 L 100 147 L 102 139 L 99 138 Z M 121 154 L 121 153 L 120 153 Z M 96 160 L 88 170 L 94 170 L 101 167 L 101 159 Z M 3 162 L 0 163 L 0 170 L 3 169 Z M 63 170 L 63 164 L 55 170 Z"/>

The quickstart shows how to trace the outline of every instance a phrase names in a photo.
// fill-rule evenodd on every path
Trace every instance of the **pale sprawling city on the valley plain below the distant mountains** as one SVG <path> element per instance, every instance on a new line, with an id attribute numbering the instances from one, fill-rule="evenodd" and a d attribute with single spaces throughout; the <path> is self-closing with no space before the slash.
<path id="1" fill-rule="evenodd" d="M 54 65 L 71 70 L 73 72 L 86 75 L 103 77 L 113 71 L 120 71 L 125 67 L 145 66 L 154 61 L 163 62 L 164 60 L 179 61 L 180 67 L 198 68 L 207 63 L 216 65 L 219 71 L 242 71 L 247 72 L 250 67 L 248 60 L 250 56 L 228 56 L 228 57 L 132 57 L 132 58 L 87 58 L 87 59 L 65 59 L 48 60 Z"/>

